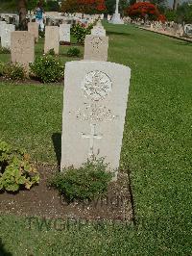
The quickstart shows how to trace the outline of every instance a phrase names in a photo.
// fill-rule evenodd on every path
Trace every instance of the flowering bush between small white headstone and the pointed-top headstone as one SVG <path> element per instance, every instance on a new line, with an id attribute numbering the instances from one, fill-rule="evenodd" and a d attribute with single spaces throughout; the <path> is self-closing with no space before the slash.
<path id="1" fill-rule="evenodd" d="M 85 36 L 90 35 L 92 28 L 92 24 L 85 28 L 84 24 L 78 23 L 72 27 L 71 33 L 74 36 L 74 38 L 77 39 L 78 43 L 84 44 Z"/>

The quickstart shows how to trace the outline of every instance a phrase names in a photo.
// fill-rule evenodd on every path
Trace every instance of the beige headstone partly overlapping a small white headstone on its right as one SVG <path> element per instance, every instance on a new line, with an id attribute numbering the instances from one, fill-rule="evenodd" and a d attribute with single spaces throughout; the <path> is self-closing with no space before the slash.
<path id="1" fill-rule="evenodd" d="M 60 48 L 60 33 L 58 26 L 46 26 L 45 27 L 45 44 L 44 53 L 54 49 L 55 54 L 59 54 Z"/>

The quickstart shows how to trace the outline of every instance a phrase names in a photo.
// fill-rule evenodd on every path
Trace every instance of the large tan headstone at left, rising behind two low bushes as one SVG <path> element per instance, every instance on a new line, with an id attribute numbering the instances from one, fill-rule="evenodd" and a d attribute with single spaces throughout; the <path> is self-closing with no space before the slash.
<path id="1" fill-rule="evenodd" d="M 15 31 L 11 34 L 12 63 L 22 64 L 29 73 L 29 64 L 35 59 L 35 38 L 27 31 Z"/>

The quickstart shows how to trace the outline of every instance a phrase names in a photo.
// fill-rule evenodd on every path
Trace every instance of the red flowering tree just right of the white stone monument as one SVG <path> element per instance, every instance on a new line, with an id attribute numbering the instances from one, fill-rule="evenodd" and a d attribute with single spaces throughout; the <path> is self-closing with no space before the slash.
<path id="1" fill-rule="evenodd" d="M 146 15 L 149 18 L 165 21 L 165 16 L 160 14 L 156 6 L 147 2 L 138 2 L 130 6 L 125 13 L 131 17 L 145 17 Z"/>

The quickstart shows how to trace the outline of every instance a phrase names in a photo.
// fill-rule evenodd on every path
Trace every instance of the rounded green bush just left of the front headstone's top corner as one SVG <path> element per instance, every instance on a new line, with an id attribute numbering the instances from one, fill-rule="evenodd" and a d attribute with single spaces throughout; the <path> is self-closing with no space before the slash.
<path id="1" fill-rule="evenodd" d="M 36 57 L 34 64 L 30 64 L 31 71 L 43 83 L 58 82 L 64 76 L 64 67 L 58 57 L 43 55 Z"/>

